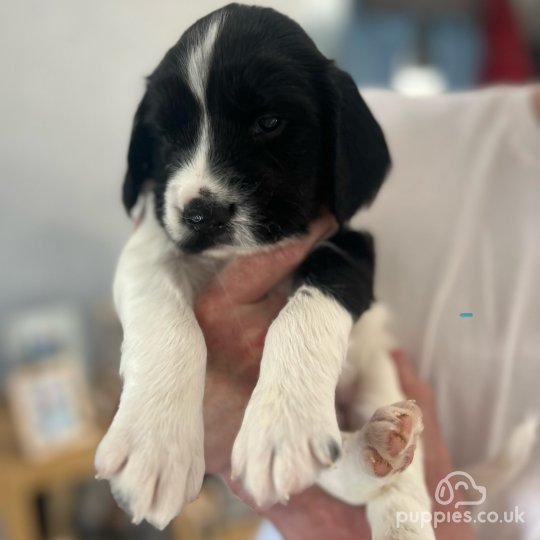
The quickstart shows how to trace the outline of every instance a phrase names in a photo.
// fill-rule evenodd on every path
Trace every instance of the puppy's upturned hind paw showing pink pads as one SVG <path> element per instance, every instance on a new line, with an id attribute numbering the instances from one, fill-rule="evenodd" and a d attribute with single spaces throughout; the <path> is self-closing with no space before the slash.
<path id="1" fill-rule="evenodd" d="M 376 476 L 404 471 L 414 458 L 424 429 L 422 412 L 414 401 L 377 409 L 365 426 L 364 456 Z"/>

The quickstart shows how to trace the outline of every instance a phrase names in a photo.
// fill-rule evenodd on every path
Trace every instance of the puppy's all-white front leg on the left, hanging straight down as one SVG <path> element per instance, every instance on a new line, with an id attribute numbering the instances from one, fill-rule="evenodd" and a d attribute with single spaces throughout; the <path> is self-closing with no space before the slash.
<path id="1" fill-rule="evenodd" d="M 198 495 L 204 475 L 206 347 L 185 272 L 147 205 L 115 277 L 124 385 L 96 469 L 135 523 L 159 528 Z"/>

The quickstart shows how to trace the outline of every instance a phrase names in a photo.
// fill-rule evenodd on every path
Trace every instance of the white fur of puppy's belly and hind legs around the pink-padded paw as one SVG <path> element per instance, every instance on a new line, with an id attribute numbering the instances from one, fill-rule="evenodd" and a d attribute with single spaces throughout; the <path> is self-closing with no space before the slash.
<path id="1" fill-rule="evenodd" d="M 396 513 L 429 512 L 430 496 L 424 481 L 422 445 L 419 440 L 412 464 L 399 474 L 377 477 L 362 450 L 375 444 L 366 438 L 366 422 L 380 408 L 405 399 L 390 356 L 393 340 L 388 329 L 389 314 L 374 304 L 352 329 L 347 363 L 338 385 L 348 396 L 349 417 L 357 432 L 344 434 L 343 458 L 337 467 L 323 471 L 318 483 L 349 504 L 366 504 L 373 538 L 433 540 L 430 525 L 410 523 L 397 529 Z M 351 393 L 352 389 L 352 393 Z M 360 427 L 363 426 L 363 427 Z M 391 429 L 391 428 L 389 428 Z M 391 489 L 388 489 L 391 486 Z"/>

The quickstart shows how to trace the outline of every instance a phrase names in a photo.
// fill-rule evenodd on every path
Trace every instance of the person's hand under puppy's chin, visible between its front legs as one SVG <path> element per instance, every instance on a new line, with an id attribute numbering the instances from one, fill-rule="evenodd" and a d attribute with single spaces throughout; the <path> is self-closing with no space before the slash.
<path id="1" fill-rule="evenodd" d="M 208 367 L 204 400 L 207 471 L 229 474 L 232 445 L 257 382 L 264 339 L 286 302 L 276 287 L 335 222 L 314 222 L 309 234 L 230 263 L 195 302 Z"/>

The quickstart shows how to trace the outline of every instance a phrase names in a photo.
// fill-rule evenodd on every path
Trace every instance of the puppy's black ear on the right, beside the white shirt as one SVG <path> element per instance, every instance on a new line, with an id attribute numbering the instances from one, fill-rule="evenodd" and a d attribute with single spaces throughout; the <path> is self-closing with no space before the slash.
<path id="1" fill-rule="evenodd" d="M 343 223 L 375 198 L 391 161 L 381 127 L 351 76 L 332 66 L 330 83 L 334 94 L 330 209 Z"/>

